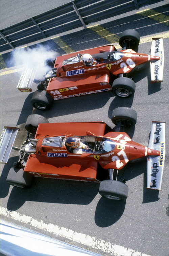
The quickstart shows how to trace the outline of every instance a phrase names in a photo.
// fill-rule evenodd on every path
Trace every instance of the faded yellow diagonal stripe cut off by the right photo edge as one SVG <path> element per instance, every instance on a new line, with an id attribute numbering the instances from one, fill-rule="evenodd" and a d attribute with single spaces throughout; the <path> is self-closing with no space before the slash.
<path id="1" fill-rule="evenodd" d="M 155 11 L 153 9 L 147 8 L 141 11 L 137 11 L 137 14 L 151 18 L 159 23 L 164 23 L 166 26 L 169 26 L 169 16 L 159 13 L 158 11 Z"/>

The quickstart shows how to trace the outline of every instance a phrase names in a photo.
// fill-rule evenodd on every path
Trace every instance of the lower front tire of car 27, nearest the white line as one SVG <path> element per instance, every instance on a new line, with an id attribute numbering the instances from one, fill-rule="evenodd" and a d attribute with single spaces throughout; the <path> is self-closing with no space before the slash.
<path id="1" fill-rule="evenodd" d="M 128 196 L 128 186 L 120 181 L 104 180 L 100 182 L 99 194 L 112 200 L 125 200 Z"/>

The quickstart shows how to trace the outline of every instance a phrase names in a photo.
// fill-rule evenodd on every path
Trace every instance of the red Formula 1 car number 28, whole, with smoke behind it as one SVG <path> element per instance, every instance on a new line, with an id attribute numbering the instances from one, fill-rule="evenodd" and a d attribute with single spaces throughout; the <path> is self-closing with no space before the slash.
<path id="1" fill-rule="evenodd" d="M 134 70 L 150 62 L 151 82 L 162 82 L 164 66 L 163 39 L 152 40 L 151 55 L 137 53 L 139 33 L 125 30 L 119 39 L 122 50 L 105 45 L 57 56 L 54 67 L 38 81 L 38 91 L 33 93 L 32 106 L 39 110 L 50 109 L 53 100 L 70 98 L 96 92 L 112 90 L 119 97 L 129 97 L 135 92 L 135 82 L 130 79 Z M 26 67 L 17 88 L 31 91 L 37 82 L 36 71 Z M 116 78 L 116 79 L 115 79 Z"/>

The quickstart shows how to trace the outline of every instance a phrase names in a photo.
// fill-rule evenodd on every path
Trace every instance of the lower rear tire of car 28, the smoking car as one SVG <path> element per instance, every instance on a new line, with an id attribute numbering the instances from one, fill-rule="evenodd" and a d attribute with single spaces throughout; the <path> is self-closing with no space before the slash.
<path id="1" fill-rule="evenodd" d="M 35 91 L 33 93 L 31 104 L 39 110 L 49 110 L 53 103 L 53 97 L 47 91 Z"/>

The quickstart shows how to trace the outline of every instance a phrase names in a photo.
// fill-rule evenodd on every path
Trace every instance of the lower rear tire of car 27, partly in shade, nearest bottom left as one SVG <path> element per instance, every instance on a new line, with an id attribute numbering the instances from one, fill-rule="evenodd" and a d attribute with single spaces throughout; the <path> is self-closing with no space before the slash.
<path id="1" fill-rule="evenodd" d="M 6 182 L 12 186 L 25 188 L 31 185 L 32 176 L 23 169 L 10 168 Z"/>

